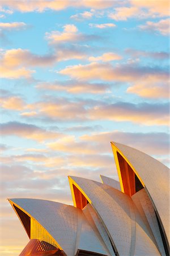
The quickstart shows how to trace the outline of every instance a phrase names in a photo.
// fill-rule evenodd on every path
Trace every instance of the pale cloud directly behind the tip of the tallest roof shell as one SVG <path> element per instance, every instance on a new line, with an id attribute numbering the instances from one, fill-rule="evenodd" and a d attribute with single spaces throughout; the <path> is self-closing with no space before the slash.
<path id="1" fill-rule="evenodd" d="M 80 142 L 91 144 L 94 152 L 96 150 L 99 153 L 112 152 L 108 143 L 111 141 L 137 148 L 149 155 L 167 155 L 169 147 L 167 133 L 129 133 L 113 130 L 80 137 Z"/>

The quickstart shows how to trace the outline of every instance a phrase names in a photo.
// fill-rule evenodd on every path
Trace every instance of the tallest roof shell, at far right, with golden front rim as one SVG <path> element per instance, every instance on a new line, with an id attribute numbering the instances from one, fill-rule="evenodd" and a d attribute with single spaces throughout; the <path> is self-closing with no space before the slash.
<path id="1" fill-rule="evenodd" d="M 145 187 L 158 213 L 169 242 L 169 169 L 151 156 L 124 144 L 111 142 L 122 192 L 125 192 L 125 172 L 121 161 L 128 164 Z M 132 174 L 130 170 L 130 175 Z M 127 177 L 127 176 L 126 176 Z M 133 194 L 132 194 L 133 195 Z"/>

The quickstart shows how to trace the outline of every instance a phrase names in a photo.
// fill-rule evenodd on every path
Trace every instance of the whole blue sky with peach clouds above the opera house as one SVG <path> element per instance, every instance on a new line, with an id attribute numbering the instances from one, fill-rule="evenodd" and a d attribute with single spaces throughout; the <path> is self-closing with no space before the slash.
<path id="1" fill-rule="evenodd" d="M 29 239 L 7 198 L 73 204 L 118 180 L 111 141 L 168 165 L 168 1 L 3 1 L 0 255 Z"/>

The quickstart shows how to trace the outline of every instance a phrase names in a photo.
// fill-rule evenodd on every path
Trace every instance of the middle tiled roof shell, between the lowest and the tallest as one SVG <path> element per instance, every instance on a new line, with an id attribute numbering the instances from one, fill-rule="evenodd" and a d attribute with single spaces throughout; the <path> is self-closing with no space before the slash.
<path id="1" fill-rule="evenodd" d="M 134 251 L 138 253 L 135 255 L 160 255 L 131 197 L 97 181 L 73 176 L 69 179 L 91 201 L 120 256 L 134 255 Z M 146 242 L 147 247 L 143 246 Z"/>

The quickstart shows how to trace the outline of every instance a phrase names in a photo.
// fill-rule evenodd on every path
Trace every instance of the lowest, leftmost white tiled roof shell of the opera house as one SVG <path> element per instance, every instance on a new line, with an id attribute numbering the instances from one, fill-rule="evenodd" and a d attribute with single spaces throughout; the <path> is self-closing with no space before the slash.
<path id="1" fill-rule="evenodd" d="M 78 249 L 108 254 L 82 210 L 71 205 L 39 199 L 10 199 L 14 205 L 35 218 L 56 240 L 66 255 L 74 256 Z"/>

